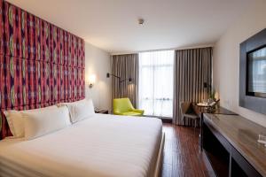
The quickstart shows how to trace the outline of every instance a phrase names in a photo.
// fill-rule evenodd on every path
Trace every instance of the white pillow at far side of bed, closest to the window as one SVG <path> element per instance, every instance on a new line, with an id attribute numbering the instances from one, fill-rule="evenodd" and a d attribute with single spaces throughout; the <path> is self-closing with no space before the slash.
<path id="1" fill-rule="evenodd" d="M 73 103 L 62 103 L 60 105 L 66 105 L 68 107 L 72 123 L 75 123 L 82 119 L 90 118 L 95 114 L 94 106 L 91 99 L 84 99 Z"/>

